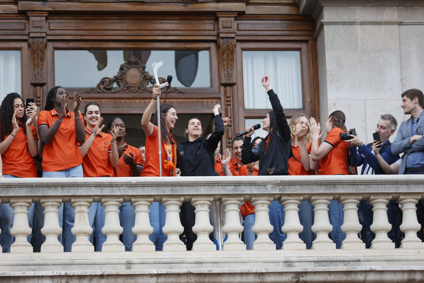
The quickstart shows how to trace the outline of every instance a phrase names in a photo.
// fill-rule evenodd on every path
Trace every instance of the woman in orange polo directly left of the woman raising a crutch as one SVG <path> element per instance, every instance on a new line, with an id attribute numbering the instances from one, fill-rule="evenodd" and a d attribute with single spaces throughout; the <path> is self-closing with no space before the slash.
<path id="1" fill-rule="evenodd" d="M 115 177 L 138 177 L 143 171 L 143 155 L 139 149 L 134 146 L 130 146 L 124 140 L 126 135 L 125 123 L 119 117 L 114 117 L 107 123 L 107 129 L 109 134 L 112 134 L 112 128 L 117 127 L 119 129 L 118 136 L 116 138 L 116 144 L 118 152 L 121 152 L 118 166 L 114 168 Z M 134 227 L 135 214 L 134 207 L 129 202 L 123 202 L 119 208 L 120 214 L 119 219 L 121 226 L 124 229 L 122 232 L 122 241 L 126 251 L 131 251 L 132 244 L 137 239 L 137 236 L 132 233 L 132 227 Z"/>

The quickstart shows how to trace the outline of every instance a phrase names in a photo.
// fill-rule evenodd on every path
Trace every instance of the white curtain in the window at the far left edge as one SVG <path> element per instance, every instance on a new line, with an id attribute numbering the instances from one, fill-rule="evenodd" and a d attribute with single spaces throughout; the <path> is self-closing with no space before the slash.
<path id="1" fill-rule="evenodd" d="M 10 92 L 22 95 L 20 50 L 0 50 L 0 103 Z"/>

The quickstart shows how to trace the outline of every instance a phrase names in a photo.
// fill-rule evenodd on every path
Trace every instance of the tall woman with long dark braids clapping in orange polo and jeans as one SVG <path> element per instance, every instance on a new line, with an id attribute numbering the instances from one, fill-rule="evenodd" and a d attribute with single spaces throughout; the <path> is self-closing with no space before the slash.
<path id="1" fill-rule="evenodd" d="M 68 93 L 63 87 L 53 87 L 47 93 L 44 111 L 39 113 L 37 120 L 39 137 L 43 143 L 43 178 L 83 177 L 82 155 L 78 149 L 78 143 L 84 143 L 85 140 L 84 118 L 78 110 L 80 104 L 81 95 L 74 92 L 73 111 L 69 111 Z M 37 203 L 34 221 L 44 219 L 42 211 Z M 59 224 L 63 227 L 59 241 L 63 240 L 65 252 L 71 251 L 75 239 L 71 233 L 75 217 L 73 211 L 69 202 L 59 208 Z"/>

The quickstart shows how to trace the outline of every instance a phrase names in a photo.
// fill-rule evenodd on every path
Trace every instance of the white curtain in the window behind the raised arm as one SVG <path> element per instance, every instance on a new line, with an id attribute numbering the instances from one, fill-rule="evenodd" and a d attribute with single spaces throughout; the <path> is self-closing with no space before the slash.
<path id="1" fill-rule="evenodd" d="M 303 108 L 300 51 L 243 51 L 243 90 L 246 109 L 271 109 L 268 95 L 260 81 L 265 73 L 269 76 L 271 87 L 278 95 L 283 108 Z"/>

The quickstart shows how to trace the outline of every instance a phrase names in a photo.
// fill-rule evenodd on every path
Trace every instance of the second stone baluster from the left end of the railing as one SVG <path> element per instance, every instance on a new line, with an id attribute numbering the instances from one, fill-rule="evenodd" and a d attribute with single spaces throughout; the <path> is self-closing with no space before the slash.
<path id="1" fill-rule="evenodd" d="M 44 225 L 41 233 L 45 235 L 46 241 L 41 245 L 41 252 L 63 252 L 63 246 L 58 241 L 62 228 L 59 225 L 59 207 L 61 198 L 44 198 L 40 201 L 44 208 Z"/>

